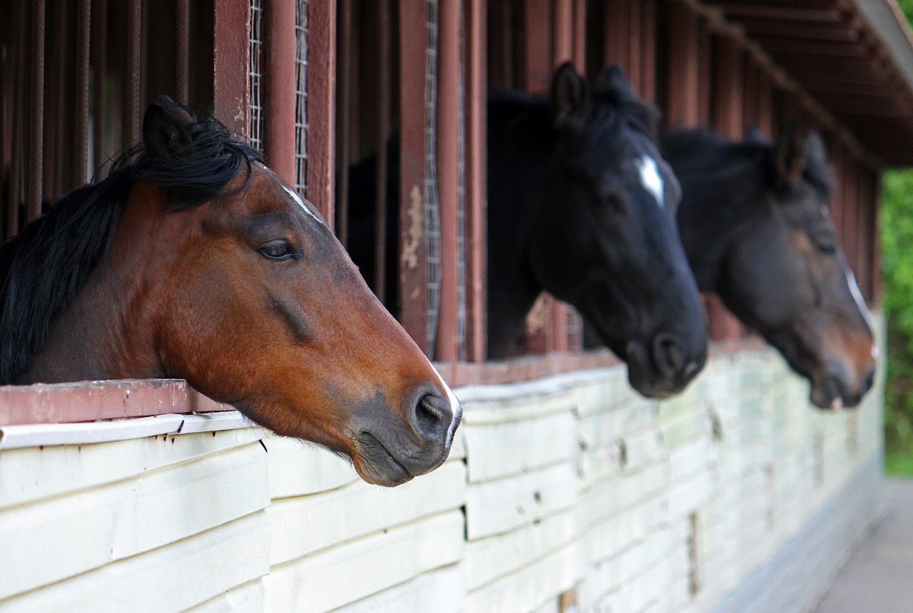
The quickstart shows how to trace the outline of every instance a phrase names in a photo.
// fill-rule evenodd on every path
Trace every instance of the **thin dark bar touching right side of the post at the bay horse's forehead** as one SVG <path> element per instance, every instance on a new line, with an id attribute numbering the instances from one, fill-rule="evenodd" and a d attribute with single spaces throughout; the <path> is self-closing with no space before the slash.
<path id="1" fill-rule="evenodd" d="M 340 0 L 336 41 L 336 235 L 349 242 L 349 165 L 352 164 L 352 1 Z"/>

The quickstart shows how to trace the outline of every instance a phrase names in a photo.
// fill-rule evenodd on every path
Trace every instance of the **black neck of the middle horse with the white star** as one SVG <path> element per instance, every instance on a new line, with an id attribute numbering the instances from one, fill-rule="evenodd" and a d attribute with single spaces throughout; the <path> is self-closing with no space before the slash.
<path id="1" fill-rule="evenodd" d="M 489 348 L 519 335 L 543 288 L 530 267 L 530 228 L 554 147 L 548 102 L 520 94 L 488 99 Z"/>

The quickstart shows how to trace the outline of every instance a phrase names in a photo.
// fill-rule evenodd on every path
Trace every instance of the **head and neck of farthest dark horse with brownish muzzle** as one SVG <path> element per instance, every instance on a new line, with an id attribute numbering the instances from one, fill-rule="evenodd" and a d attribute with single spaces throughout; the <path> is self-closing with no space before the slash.
<path id="1" fill-rule="evenodd" d="M 815 405 L 857 405 L 872 387 L 874 341 L 828 210 L 821 138 L 794 126 L 775 144 L 688 130 L 664 135 L 663 153 L 682 183 L 678 226 L 700 288 L 811 381 Z"/>

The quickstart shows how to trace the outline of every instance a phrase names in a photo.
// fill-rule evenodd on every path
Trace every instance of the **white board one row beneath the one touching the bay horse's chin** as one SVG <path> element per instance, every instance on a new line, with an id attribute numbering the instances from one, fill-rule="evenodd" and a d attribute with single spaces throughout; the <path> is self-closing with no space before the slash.
<path id="1" fill-rule="evenodd" d="M 340 608 L 463 557 L 463 514 L 450 511 L 273 566 L 267 611 Z"/>

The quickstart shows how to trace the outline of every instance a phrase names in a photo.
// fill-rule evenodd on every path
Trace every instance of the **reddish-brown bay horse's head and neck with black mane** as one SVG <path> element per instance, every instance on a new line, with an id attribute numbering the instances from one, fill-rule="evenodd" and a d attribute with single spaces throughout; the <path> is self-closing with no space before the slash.
<path id="1" fill-rule="evenodd" d="M 456 397 L 310 203 L 170 99 L 142 132 L 0 248 L 0 382 L 182 378 L 369 483 L 444 462 Z"/>

